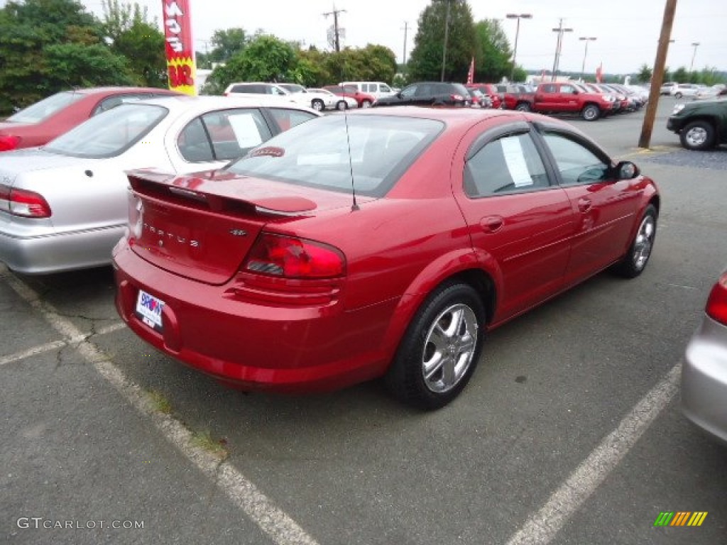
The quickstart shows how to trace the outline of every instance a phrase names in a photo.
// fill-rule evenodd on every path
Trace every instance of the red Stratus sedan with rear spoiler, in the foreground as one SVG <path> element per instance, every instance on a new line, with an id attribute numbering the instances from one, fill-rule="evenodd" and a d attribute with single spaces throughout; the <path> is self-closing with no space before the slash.
<path id="1" fill-rule="evenodd" d="M 486 331 L 639 275 L 660 206 L 569 124 L 470 108 L 326 116 L 225 169 L 129 181 L 116 307 L 142 339 L 241 389 L 385 376 L 422 408 L 461 392 Z"/>

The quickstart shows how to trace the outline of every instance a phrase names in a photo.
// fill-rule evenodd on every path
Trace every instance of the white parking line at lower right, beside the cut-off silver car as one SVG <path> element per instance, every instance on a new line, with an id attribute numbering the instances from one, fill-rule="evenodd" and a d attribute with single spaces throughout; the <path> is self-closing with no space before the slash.
<path id="1" fill-rule="evenodd" d="M 678 392 L 682 363 L 652 388 L 531 516 L 507 545 L 545 545 L 593 494 Z"/>

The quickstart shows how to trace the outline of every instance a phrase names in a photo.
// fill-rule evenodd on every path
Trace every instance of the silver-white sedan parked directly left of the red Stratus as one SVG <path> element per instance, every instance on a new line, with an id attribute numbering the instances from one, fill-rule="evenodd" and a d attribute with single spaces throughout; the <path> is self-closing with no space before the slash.
<path id="1" fill-rule="evenodd" d="M 25 274 L 108 265 L 128 222 L 125 171 L 220 169 L 318 116 L 274 97 L 165 97 L 116 106 L 41 148 L 1 153 L 0 261 Z"/>

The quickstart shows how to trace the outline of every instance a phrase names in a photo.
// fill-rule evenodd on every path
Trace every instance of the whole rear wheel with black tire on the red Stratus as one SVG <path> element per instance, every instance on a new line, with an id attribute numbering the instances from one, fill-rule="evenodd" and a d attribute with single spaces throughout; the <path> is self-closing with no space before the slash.
<path id="1" fill-rule="evenodd" d="M 433 410 L 454 400 L 482 352 L 486 312 L 465 283 L 446 283 L 425 300 L 406 330 L 387 373 L 400 400 Z"/>

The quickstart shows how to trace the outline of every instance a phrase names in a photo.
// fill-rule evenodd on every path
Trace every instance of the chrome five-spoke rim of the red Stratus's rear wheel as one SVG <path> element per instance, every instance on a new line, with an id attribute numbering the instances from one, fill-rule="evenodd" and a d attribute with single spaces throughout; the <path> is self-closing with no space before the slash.
<path id="1" fill-rule="evenodd" d="M 472 363 L 477 346 L 477 318 L 466 304 L 443 310 L 427 332 L 422 355 L 424 382 L 432 392 L 449 392 Z"/>

